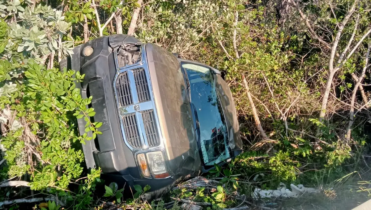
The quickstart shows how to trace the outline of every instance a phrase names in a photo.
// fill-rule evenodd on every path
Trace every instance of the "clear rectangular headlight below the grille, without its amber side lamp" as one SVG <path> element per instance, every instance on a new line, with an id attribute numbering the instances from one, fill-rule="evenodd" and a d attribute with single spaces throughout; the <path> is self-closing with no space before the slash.
<path id="1" fill-rule="evenodd" d="M 161 151 L 147 153 L 148 165 L 150 166 L 152 175 L 157 178 L 166 178 L 169 174 L 166 171 L 164 156 Z"/>

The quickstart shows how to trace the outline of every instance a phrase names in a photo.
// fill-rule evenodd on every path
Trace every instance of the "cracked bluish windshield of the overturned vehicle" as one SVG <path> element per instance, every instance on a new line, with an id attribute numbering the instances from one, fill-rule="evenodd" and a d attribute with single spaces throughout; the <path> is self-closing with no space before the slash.
<path id="1" fill-rule="evenodd" d="M 191 102 L 196 107 L 200 124 L 200 144 L 205 165 L 211 166 L 230 157 L 228 133 L 209 68 L 182 63 L 188 75 Z"/>

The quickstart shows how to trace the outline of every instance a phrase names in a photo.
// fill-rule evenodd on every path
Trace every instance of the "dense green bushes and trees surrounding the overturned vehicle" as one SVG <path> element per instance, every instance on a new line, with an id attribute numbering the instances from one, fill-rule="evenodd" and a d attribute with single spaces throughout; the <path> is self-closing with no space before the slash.
<path id="1" fill-rule="evenodd" d="M 235 207 L 236 191 L 362 175 L 370 159 L 370 12 L 370 0 L 0 0 L 0 206 L 122 201 L 99 169 L 84 168 L 80 143 L 92 137 L 79 135 L 76 118 L 93 138 L 102 123 L 89 121 L 91 98 L 75 87 L 84 76 L 58 65 L 74 46 L 115 33 L 216 67 L 233 91 L 245 152 L 207 174 L 224 177 L 213 193 L 179 187 L 171 196 Z M 107 185 L 105 197 L 95 196 L 97 185 Z M 148 188 L 136 187 L 134 197 Z"/>

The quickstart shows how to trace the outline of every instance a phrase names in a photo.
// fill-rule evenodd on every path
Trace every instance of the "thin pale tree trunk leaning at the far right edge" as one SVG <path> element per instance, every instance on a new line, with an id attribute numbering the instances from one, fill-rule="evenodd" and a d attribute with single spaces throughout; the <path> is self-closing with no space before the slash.
<path id="1" fill-rule="evenodd" d="M 357 89 L 361 85 L 363 78 L 365 77 L 366 74 L 366 69 L 367 69 L 367 64 L 368 64 L 368 57 L 370 56 L 370 49 L 371 49 L 371 44 L 368 46 L 366 57 L 365 57 L 365 66 L 362 69 L 361 76 L 359 76 L 357 83 L 354 86 L 353 92 L 352 92 L 352 97 L 350 101 L 350 111 L 349 111 L 349 124 L 347 128 L 347 134 L 345 134 L 345 140 L 348 142 L 350 140 L 350 135 L 351 135 L 351 128 L 352 124 L 354 122 L 354 101 L 355 101 L 355 96 L 357 94 Z"/>

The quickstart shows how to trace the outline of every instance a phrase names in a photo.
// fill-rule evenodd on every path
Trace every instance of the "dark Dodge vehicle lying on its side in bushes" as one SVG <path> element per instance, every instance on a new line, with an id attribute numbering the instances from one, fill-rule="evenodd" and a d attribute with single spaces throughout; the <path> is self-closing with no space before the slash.
<path id="1" fill-rule="evenodd" d="M 230 161 L 242 152 L 232 94 L 220 72 L 182 60 L 124 35 L 76 47 L 68 67 L 92 96 L 102 132 L 82 145 L 87 168 L 106 181 L 151 186 L 152 196 L 174 183 Z M 84 132 L 85 121 L 78 120 Z"/>

